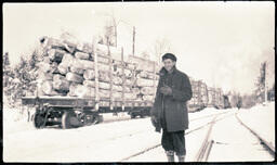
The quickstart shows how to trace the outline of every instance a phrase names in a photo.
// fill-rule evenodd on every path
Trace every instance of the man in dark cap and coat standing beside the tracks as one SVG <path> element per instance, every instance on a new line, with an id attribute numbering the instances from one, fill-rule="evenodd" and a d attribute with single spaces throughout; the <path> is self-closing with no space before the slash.
<path id="1" fill-rule="evenodd" d="M 192 98 L 192 86 L 186 74 L 175 67 L 176 56 L 166 53 L 162 56 L 163 67 L 156 98 L 150 111 L 151 123 L 156 131 L 162 128 L 161 145 L 169 162 L 174 162 L 174 153 L 179 162 L 185 161 L 185 129 L 188 128 L 186 102 Z"/>

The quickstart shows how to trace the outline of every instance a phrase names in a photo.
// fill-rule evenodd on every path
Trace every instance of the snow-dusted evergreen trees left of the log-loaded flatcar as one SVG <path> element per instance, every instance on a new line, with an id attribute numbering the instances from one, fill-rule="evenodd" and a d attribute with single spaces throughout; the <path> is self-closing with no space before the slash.
<path id="1" fill-rule="evenodd" d="M 3 55 L 3 94 L 4 103 L 14 107 L 21 104 L 21 98 L 36 91 L 38 54 L 36 50 L 31 55 L 22 55 L 19 63 L 11 66 L 9 52 Z"/>

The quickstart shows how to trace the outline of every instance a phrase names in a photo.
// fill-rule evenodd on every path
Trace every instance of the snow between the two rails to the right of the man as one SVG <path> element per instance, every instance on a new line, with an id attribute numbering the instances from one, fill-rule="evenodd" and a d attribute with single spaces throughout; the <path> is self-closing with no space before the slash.
<path id="1" fill-rule="evenodd" d="M 260 144 L 235 115 L 222 119 L 212 128 L 214 141 L 207 162 L 269 162 L 274 157 Z"/>

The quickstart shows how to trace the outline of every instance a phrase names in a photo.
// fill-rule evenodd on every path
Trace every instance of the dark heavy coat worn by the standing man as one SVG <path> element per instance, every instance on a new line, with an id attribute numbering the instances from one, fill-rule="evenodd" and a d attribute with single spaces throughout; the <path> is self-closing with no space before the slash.
<path id="1" fill-rule="evenodd" d="M 164 85 L 166 74 L 168 74 L 164 67 L 160 71 L 159 84 L 156 92 L 155 102 L 150 114 L 158 120 L 156 124 L 156 130 L 160 131 L 162 116 L 166 117 L 167 131 L 179 131 L 188 128 L 188 114 L 186 102 L 192 99 L 192 86 L 186 74 L 177 71 L 173 67 L 172 75 L 172 94 L 164 97 L 160 92 L 160 88 Z M 164 113 L 164 115 L 163 115 Z"/>

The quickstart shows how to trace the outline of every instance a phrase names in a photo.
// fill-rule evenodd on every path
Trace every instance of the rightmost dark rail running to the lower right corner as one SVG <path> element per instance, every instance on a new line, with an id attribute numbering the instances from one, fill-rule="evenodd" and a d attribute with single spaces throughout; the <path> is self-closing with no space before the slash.
<path id="1" fill-rule="evenodd" d="M 275 147 L 273 147 L 269 142 L 267 142 L 264 138 L 262 138 L 261 136 L 259 136 L 258 132 L 255 132 L 253 129 L 251 129 L 250 127 L 248 127 L 237 115 L 236 113 L 236 118 L 238 119 L 238 122 L 240 123 L 240 125 L 242 125 L 243 127 L 246 127 L 252 135 L 254 135 L 261 142 L 261 144 L 266 149 L 266 151 L 273 156 L 275 157 Z"/>

